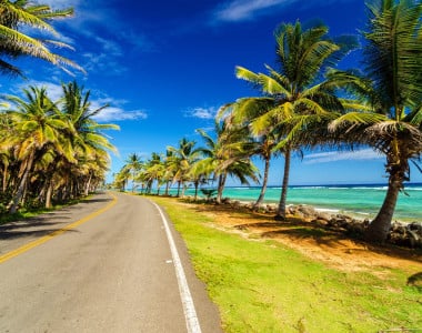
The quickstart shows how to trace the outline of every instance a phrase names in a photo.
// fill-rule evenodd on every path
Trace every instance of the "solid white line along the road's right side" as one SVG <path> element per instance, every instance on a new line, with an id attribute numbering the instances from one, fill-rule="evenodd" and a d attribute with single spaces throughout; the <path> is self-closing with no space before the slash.
<path id="1" fill-rule="evenodd" d="M 199 325 L 199 320 L 197 316 L 197 311 L 194 309 L 193 299 L 189 290 L 187 276 L 184 274 L 183 266 L 180 261 L 178 249 L 175 248 L 175 243 L 169 228 L 169 222 L 167 221 L 160 206 L 155 202 L 151 201 L 151 203 L 159 211 L 162 222 L 164 224 L 167 239 L 169 241 L 171 255 L 174 262 L 174 270 L 175 270 L 175 275 L 178 278 L 179 292 L 180 292 L 180 297 L 183 304 L 183 312 L 184 312 L 184 317 L 187 321 L 188 333 L 201 333 L 201 326 Z"/>

